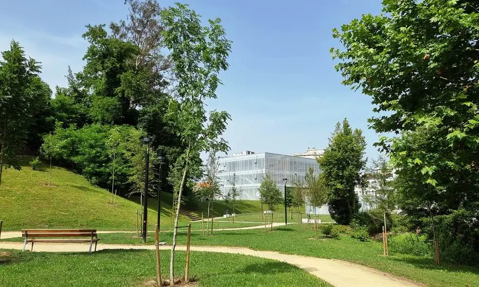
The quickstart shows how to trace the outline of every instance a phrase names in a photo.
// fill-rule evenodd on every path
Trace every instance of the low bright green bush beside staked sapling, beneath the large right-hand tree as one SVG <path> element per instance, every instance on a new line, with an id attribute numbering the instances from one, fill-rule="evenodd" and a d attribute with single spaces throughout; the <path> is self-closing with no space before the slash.
<path id="1" fill-rule="evenodd" d="M 414 256 L 432 255 L 432 245 L 426 241 L 426 235 L 403 233 L 389 238 L 389 248 L 392 253 Z"/>

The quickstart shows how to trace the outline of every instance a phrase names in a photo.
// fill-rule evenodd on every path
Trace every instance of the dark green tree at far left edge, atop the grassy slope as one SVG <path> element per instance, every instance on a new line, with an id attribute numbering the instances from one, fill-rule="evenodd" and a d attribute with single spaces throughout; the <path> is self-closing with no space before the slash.
<path id="1" fill-rule="evenodd" d="M 40 64 L 27 59 L 18 42 L 0 61 L 0 183 L 4 168 L 20 169 L 16 155 L 25 146 L 32 117 L 50 89 L 38 76 Z"/>

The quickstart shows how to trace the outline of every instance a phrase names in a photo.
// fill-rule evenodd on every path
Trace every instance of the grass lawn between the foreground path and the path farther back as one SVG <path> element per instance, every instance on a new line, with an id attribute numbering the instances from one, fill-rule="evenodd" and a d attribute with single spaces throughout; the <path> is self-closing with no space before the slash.
<path id="1" fill-rule="evenodd" d="M 293 224 L 264 229 L 217 231 L 214 236 L 202 236 L 192 232 L 193 245 L 224 245 L 248 247 L 254 250 L 278 251 L 285 254 L 298 254 L 321 258 L 347 260 L 394 275 L 409 278 L 434 287 L 479 286 L 479 268 L 444 264 L 437 266 L 434 260 L 426 257 L 391 254 L 382 256 L 382 242 L 361 242 L 349 236 L 341 239 L 314 240 L 313 225 Z M 125 234 L 102 234 L 101 243 L 140 243 Z M 171 243 L 171 233 L 161 235 L 161 240 Z M 178 234 L 179 244 L 186 243 L 186 234 Z"/>

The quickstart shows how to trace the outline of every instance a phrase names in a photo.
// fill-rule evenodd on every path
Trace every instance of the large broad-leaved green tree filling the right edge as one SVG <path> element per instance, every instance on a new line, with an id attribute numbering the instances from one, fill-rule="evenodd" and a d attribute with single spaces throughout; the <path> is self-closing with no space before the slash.
<path id="1" fill-rule="evenodd" d="M 384 1 L 380 15 L 333 32 L 345 48 L 331 49 L 343 84 L 381 113 L 371 127 L 400 134 L 377 145 L 397 168 L 400 206 L 413 216 L 452 215 L 479 201 L 477 11 L 470 1 Z"/>

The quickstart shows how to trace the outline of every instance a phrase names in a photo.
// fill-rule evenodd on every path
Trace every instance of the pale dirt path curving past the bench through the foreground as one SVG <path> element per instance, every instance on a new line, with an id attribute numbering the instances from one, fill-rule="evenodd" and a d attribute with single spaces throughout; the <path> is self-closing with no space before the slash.
<path id="1" fill-rule="evenodd" d="M 97 250 L 105 249 L 145 249 L 153 250 L 152 245 L 124 245 L 124 244 L 98 244 Z M 160 247 L 162 250 L 169 250 L 171 247 L 166 245 Z M 22 249 L 20 242 L 0 242 L 0 249 Z M 177 246 L 177 250 L 185 250 L 184 245 Z M 86 252 L 88 244 L 78 243 L 39 243 L 35 244 L 35 252 Z M 268 258 L 283 261 L 297 267 L 329 282 L 337 287 L 419 287 L 421 284 L 409 281 L 407 279 L 394 277 L 391 274 L 381 272 L 375 269 L 367 268 L 362 265 L 316 257 L 307 257 L 299 255 L 287 255 L 272 251 L 256 251 L 248 248 L 235 247 L 206 247 L 192 246 L 192 251 L 202 252 L 220 252 L 234 253 L 249 256 Z M 192 256 L 195 256 L 192 254 Z"/>

